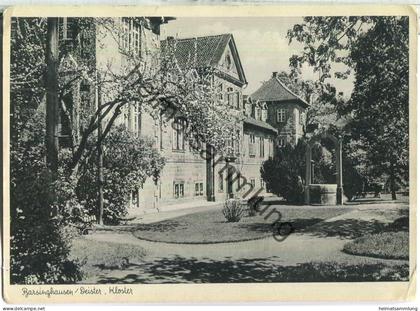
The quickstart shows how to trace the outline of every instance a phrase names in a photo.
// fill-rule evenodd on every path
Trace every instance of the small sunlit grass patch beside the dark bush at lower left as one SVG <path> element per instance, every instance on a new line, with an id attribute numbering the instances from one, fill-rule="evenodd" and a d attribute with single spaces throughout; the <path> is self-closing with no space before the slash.
<path id="1" fill-rule="evenodd" d="M 80 237 L 72 242 L 70 257 L 82 264 L 84 278 L 103 269 L 123 269 L 130 263 L 141 262 L 146 252 L 136 245 L 98 242 Z"/>

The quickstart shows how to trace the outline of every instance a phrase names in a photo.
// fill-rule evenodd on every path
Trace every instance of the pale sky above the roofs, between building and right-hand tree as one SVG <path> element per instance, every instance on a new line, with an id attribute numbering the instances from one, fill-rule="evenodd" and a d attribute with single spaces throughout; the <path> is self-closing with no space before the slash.
<path id="1" fill-rule="evenodd" d="M 302 22 L 301 17 L 179 17 L 161 28 L 161 38 L 200 37 L 223 33 L 233 34 L 248 86 L 245 94 L 257 90 L 273 71 L 289 71 L 289 58 L 300 54 L 303 46 L 286 38 L 287 30 Z M 316 79 L 318 74 L 305 67 L 304 79 Z M 352 79 L 330 80 L 337 91 L 350 96 Z"/>

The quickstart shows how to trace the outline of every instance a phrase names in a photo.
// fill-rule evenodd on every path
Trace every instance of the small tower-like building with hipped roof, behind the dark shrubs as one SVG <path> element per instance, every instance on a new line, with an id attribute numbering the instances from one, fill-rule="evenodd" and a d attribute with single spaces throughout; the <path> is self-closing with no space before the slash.
<path id="1" fill-rule="evenodd" d="M 271 78 L 264 82 L 250 96 L 253 103 L 267 109 L 267 122 L 278 131 L 277 143 L 296 144 L 304 134 L 306 111 L 309 104 L 293 93 L 273 72 Z"/>

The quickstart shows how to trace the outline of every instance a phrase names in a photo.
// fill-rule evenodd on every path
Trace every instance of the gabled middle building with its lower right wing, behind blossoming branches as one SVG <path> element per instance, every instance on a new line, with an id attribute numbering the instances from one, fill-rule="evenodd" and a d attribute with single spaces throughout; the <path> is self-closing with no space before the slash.
<path id="1" fill-rule="evenodd" d="M 167 38 L 162 45 L 171 44 L 173 40 Z M 243 116 L 237 133 L 240 140 L 234 142 L 233 154 L 215 154 L 205 159 L 189 147 L 183 133 L 177 133 L 170 126 L 161 130 L 161 151 L 167 164 L 158 185 L 160 206 L 192 200 L 221 201 L 251 192 L 251 187 L 252 192 L 261 186 L 264 189 L 260 167 L 272 155 L 273 138 L 277 133 L 265 122 L 267 111 L 258 110 L 244 100 L 242 92 L 247 80 L 231 34 L 176 40 L 175 57 L 181 68 L 193 55 L 197 69 L 214 70 L 214 87 L 220 99 L 226 101 L 233 113 Z"/>

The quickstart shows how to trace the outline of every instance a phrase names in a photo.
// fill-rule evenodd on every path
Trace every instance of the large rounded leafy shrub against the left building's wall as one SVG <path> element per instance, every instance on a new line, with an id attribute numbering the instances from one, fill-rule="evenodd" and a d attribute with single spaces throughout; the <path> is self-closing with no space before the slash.
<path id="1" fill-rule="evenodd" d="M 131 192 L 138 191 L 146 178 L 159 178 L 164 158 L 153 148 L 151 140 L 135 137 L 123 126 L 111 130 L 103 142 L 103 149 L 104 222 L 117 223 L 118 218 L 127 213 Z M 96 170 L 96 163 L 90 162 L 76 189 L 90 215 L 96 215 L 98 211 Z"/>

